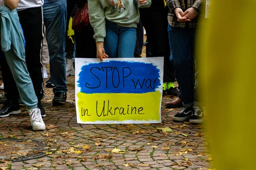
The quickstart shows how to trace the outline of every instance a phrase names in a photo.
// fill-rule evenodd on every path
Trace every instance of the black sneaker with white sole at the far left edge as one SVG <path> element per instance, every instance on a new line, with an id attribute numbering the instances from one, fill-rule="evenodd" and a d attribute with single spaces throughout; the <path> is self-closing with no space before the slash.
<path id="1" fill-rule="evenodd" d="M 12 101 L 8 100 L 6 104 L 0 109 L 0 117 L 7 117 L 11 114 L 19 114 L 20 105 L 15 105 Z"/>

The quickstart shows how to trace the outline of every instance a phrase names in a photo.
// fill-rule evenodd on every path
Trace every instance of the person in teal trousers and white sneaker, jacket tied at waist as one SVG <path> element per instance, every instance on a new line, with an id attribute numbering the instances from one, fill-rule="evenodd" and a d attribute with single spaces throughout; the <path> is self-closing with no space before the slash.
<path id="1" fill-rule="evenodd" d="M 38 99 L 26 68 L 24 36 L 16 10 L 18 2 L 19 0 L 0 0 L 1 48 L 12 71 L 20 97 L 29 110 L 33 130 L 45 130 L 41 111 L 37 105 Z M 20 111 L 9 114 L 18 113 Z"/>

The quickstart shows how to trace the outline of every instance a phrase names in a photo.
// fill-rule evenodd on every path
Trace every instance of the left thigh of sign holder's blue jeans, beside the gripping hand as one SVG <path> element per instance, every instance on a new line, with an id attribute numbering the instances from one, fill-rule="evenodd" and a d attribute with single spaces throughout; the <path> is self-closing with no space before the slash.
<path id="1" fill-rule="evenodd" d="M 106 20 L 106 37 L 104 39 L 105 53 L 109 58 L 118 57 L 117 24 Z"/>

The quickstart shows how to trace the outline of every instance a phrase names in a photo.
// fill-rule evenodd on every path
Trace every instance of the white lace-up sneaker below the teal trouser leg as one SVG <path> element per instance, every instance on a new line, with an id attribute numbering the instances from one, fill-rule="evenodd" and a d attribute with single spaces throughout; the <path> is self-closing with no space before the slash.
<path id="1" fill-rule="evenodd" d="M 33 130 L 45 130 L 45 124 L 40 109 L 29 110 L 30 122 Z"/>

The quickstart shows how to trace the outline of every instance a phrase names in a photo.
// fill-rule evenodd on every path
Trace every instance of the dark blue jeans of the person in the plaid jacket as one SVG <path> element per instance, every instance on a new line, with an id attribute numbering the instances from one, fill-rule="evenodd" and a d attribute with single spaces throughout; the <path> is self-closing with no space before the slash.
<path id="1" fill-rule="evenodd" d="M 194 29 L 168 26 L 175 77 L 180 87 L 184 107 L 194 102 L 193 40 Z"/>

